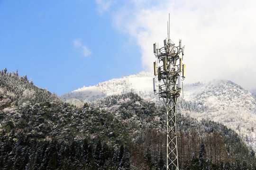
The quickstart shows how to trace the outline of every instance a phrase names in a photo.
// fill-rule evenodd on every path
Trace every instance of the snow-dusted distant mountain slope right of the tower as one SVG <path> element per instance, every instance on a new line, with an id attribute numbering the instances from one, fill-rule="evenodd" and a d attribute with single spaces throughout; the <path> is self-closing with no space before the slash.
<path id="1" fill-rule="evenodd" d="M 187 108 L 183 112 L 199 120 L 223 123 L 256 150 L 256 99 L 250 92 L 231 81 L 213 80 L 186 85 L 184 99 L 196 110 Z"/>

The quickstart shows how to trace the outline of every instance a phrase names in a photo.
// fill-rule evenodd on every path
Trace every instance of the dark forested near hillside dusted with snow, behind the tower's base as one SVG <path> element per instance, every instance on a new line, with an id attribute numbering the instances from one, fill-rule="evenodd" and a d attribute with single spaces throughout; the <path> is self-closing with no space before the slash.
<path id="1" fill-rule="evenodd" d="M 190 105 L 177 105 L 180 170 L 256 169 L 234 130 L 182 115 Z M 0 71 L 1 170 L 164 170 L 165 147 L 163 105 L 126 93 L 77 107 Z"/>

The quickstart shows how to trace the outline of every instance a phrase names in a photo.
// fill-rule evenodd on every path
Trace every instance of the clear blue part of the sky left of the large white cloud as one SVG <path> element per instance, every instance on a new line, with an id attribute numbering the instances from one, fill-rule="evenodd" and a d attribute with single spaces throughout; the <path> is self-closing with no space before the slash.
<path id="1" fill-rule="evenodd" d="M 143 70 L 135 40 L 94 1 L 0 1 L 0 69 L 58 95 Z"/>

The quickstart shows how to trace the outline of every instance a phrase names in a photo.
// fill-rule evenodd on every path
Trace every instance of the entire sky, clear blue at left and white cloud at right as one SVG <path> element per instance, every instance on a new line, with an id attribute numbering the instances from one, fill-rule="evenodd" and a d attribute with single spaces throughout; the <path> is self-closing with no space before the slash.
<path id="1" fill-rule="evenodd" d="M 0 69 L 58 95 L 152 71 L 153 43 L 185 45 L 184 83 L 256 89 L 255 0 L 0 0 Z"/>

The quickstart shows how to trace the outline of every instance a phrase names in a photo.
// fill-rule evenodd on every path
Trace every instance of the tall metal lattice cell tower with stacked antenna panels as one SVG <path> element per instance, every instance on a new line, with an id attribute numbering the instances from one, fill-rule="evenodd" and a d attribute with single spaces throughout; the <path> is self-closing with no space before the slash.
<path id="1" fill-rule="evenodd" d="M 186 65 L 183 64 L 184 46 L 179 40 L 179 46 L 170 40 L 170 15 L 169 26 L 167 23 L 168 40 L 164 40 L 164 47 L 156 47 L 154 44 L 153 78 L 154 93 L 162 98 L 166 107 L 166 170 L 179 170 L 178 149 L 177 149 L 177 130 L 176 130 L 176 102 L 183 89 L 182 80 L 185 78 Z M 156 79 L 158 82 L 156 82 Z M 157 85 L 156 85 L 157 84 Z M 156 91 L 158 86 L 158 92 Z"/>

